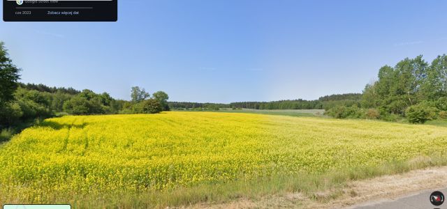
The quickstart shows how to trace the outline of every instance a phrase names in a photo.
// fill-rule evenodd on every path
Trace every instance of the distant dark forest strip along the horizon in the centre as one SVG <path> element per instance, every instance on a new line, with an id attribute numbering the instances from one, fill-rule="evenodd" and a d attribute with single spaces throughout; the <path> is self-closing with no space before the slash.
<path id="1" fill-rule="evenodd" d="M 326 95 L 318 100 L 280 100 L 272 102 L 232 102 L 230 104 L 169 102 L 171 109 L 330 109 L 336 106 L 360 105 L 361 93 Z"/>

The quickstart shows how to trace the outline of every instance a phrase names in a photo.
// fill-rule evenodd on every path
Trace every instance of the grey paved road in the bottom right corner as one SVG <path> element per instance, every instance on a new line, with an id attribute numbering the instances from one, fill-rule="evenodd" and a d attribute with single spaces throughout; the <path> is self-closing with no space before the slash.
<path id="1" fill-rule="evenodd" d="M 381 201 L 363 203 L 359 206 L 354 206 L 356 209 L 395 209 L 395 208 L 446 208 L 447 209 L 447 200 L 441 206 L 433 206 L 430 203 L 430 194 L 436 190 L 424 191 L 419 194 L 413 194 L 411 196 L 401 197 L 399 199 L 383 199 Z M 442 192 L 444 196 L 447 197 L 447 188 L 437 189 L 437 191 Z"/>

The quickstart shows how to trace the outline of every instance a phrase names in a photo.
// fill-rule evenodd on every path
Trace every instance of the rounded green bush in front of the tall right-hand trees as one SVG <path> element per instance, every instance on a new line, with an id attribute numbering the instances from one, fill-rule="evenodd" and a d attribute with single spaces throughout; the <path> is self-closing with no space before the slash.
<path id="1" fill-rule="evenodd" d="M 431 107 L 427 104 L 416 104 L 408 107 L 405 111 L 405 116 L 410 123 L 425 123 L 437 118 L 436 107 Z"/>

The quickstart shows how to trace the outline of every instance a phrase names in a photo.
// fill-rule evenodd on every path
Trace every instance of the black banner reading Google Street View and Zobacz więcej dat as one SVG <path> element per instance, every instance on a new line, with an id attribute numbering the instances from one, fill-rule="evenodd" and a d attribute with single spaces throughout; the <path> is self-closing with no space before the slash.
<path id="1" fill-rule="evenodd" d="M 5 22 L 115 22 L 117 19 L 117 0 L 3 0 Z"/>

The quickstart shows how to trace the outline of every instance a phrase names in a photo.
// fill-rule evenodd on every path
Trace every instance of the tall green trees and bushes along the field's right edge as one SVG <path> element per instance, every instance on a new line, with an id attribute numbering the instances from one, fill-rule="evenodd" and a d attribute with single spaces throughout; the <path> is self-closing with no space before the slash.
<path id="1" fill-rule="evenodd" d="M 326 111 L 335 118 L 379 118 L 425 123 L 447 118 L 447 56 L 427 63 L 422 56 L 383 66 L 378 80 L 367 84 L 360 105 L 339 105 Z"/>

